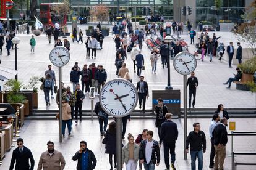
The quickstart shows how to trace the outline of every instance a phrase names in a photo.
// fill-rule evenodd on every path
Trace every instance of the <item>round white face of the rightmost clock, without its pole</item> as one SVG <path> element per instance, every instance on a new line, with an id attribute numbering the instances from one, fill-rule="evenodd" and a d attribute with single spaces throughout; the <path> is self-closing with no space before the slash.
<path id="1" fill-rule="evenodd" d="M 175 70 L 182 75 L 189 75 L 197 67 L 197 60 L 189 52 L 179 52 L 173 60 Z"/>

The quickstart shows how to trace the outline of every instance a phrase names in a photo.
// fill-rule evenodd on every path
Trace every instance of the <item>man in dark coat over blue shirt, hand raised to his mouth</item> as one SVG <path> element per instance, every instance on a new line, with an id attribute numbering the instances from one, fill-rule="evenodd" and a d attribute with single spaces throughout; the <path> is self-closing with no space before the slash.
<path id="1" fill-rule="evenodd" d="M 77 160 L 77 170 L 95 169 L 97 163 L 94 153 L 87 148 L 87 143 L 85 141 L 80 142 L 80 150 L 75 153 L 72 160 Z"/>

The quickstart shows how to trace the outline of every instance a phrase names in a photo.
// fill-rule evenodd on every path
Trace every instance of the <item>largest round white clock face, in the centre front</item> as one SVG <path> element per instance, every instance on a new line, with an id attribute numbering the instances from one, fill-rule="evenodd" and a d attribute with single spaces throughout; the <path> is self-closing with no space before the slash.
<path id="1" fill-rule="evenodd" d="M 100 105 L 108 115 L 122 118 L 135 109 L 138 102 L 134 84 L 126 79 L 108 81 L 100 91 Z"/>

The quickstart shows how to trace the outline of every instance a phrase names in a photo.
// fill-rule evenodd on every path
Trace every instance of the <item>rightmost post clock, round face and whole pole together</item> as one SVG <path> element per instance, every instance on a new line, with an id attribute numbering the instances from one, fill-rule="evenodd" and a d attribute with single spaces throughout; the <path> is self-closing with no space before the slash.
<path id="1" fill-rule="evenodd" d="M 187 160 L 186 138 L 187 138 L 187 75 L 197 67 L 197 60 L 189 52 L 179 52 L 174 57 L 173 66 L 175 70 L 183 75 L 183 103 L 184 103 L 184 160 Z"/>

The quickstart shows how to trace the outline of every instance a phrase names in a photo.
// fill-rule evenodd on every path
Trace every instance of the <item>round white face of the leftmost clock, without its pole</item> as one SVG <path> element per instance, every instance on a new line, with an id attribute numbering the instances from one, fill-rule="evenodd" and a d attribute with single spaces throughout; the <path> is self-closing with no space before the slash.
<path id="1" fill-rule="evenodd" d="M 66 47 L 57 46 L 49 54 L 51 63 L 57 67 L 62 67 L 69 62 L 70 54 Z"/>

